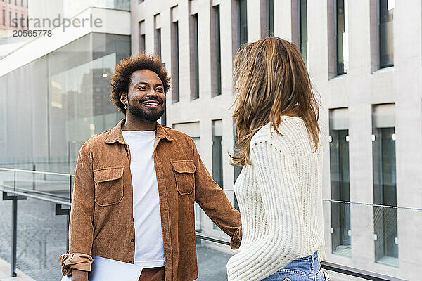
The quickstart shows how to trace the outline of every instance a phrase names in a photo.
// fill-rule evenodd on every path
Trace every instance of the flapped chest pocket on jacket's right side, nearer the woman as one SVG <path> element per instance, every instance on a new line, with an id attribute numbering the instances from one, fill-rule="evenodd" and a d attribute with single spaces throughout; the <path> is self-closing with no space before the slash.
<path id="1" fill-rule="evenodd" d="M 176 178 L 177 192 L 180 195 L 191 194 L 195 188 L 195 164 L 192 160 L 172 161 L 171 164 Z"/>

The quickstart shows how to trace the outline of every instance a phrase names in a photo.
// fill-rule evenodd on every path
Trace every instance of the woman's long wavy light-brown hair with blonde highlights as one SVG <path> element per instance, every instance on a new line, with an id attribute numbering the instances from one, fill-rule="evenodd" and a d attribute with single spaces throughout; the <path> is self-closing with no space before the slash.
<path id="1" fill-rule="evenodd" d="M 252 136 L 269 122 L 280 133 L 283 115 L 302 117 L 317 150 L 319 101 L 297 46 L 278 37 L 243 46 L 234 60 L 234 82 L 238 90 L 233 115 L 238 145 L 235 154 L 229 154 L 231 165 L 252 164 Z"/>

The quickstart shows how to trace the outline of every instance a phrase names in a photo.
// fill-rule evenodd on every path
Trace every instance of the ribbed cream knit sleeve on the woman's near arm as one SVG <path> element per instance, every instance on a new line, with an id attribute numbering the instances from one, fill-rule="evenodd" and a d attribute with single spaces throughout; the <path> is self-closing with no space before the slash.
<path id="1" fill-rule="evenodd" d="M 291 159 L 267 140 L 251 143 L 250 158 L 262 200 L 262 207 L 248 209 L 255 218 L 250 224 L 265 231 L 229 259 L 229 281 L 262 280 L 300 256 L 304 247 L 300 181 Z"/>

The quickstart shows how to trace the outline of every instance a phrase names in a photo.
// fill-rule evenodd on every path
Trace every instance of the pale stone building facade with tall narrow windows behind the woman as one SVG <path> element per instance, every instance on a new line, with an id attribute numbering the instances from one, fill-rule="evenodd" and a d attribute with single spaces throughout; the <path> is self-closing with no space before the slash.
<path id="1" fill-rule="evenodd" d="M 321 96 L 327 260 L 418 280 L 420 1 L 134 0 L 131 11 L 132 54 L 160 55 L 172 76 L 167 126 L 193 137 L 235 205 L 234 55 L 272 34 L 298 44 Z"/>

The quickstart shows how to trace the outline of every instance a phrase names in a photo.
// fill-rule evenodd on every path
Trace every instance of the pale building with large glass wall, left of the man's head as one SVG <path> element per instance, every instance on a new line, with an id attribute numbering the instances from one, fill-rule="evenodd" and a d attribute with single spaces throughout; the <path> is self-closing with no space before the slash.
<path id="1" fill-rule="evenodd" d="M 130 55 L 129 4 L 30 4 L 30 18 L 88 23 L 42 27 L 45 36 L 1 58 L 0 166 L 73 174 L 81 145 L 122 118 L 109 101 L 110 75 Z"/>

